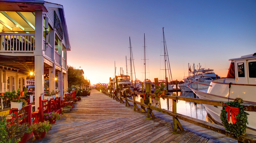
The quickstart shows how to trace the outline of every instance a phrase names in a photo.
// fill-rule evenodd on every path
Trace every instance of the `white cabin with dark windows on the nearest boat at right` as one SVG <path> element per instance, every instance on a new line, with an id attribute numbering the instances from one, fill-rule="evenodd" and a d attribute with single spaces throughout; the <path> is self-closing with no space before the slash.
<path id="1" fill-rule="evenodd" d="M 256 53 L 229 60 L 231 64 L 225 83 L 256 84 Z"/>

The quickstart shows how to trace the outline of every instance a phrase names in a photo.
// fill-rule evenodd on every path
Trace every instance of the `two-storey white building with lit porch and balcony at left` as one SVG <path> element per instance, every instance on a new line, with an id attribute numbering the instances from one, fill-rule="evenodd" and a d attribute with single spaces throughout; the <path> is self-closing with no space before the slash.
<path id="1" fill-rule="evenodd" d="M 0 92 L 22 89 L 31 84 L 27 79 L 34 80 L 37 109 L 47 74 L 50 91 L 57 87 L 63 99 L 71 50 L 63 6 L 37 0 L 0 3 Z"/>

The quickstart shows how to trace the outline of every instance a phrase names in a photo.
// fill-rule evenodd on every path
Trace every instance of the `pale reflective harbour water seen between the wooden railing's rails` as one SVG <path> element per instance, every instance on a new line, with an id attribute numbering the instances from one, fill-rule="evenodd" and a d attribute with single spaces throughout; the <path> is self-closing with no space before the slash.
<path id="1" fill-rule="evenodd" d="M 194 98 L 194 93 L 193 92 L 178 92 L 178 96 Z M 140 97 L 140 96 L 136 96 L 135 100 L 140 102 L 141 98 L 142 97 Z M 169 103 L 168 103 L 168 101 L 169 101 Z M 171 99 L 160 98 L 160 102 L 161 102 L 162 109 L 172 111 L 172 100 Z M 177 113 L 180 113 L 182 115 L 186 115 L 189 117 L 201 119 L 204 121 L 205 121 L 206 115 L 207 115 L 206 110 L 201 103 L 192 103 L 192 102 L 181 101 L 181 100 L 177 101 Z"/>

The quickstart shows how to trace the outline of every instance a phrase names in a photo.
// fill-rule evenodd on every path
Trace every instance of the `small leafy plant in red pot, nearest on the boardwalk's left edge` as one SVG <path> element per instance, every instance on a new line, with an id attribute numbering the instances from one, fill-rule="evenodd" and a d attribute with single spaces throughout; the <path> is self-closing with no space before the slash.
<path id="1" fill-rule="evenodd" d="M 44 138 L 49 130 L 52 130 L 52 125 L 49 121 L 34 123 L 30 126 L 36 139 Z"/>

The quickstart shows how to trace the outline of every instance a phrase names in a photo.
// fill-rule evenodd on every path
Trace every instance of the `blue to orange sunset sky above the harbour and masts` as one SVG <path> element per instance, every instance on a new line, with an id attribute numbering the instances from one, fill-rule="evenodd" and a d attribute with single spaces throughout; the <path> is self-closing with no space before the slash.
<path id="1" fill-rule="evenodd" d="M 46 0 L 47 1 L 47 0 Z M 201 63 L 225 77 L 230 61 L 256 53 L 255 0 L 48 0 L 63 5 L 71 51 L 68 64 L 83 69 L 91 84 L 108 83 L 120 67 L 126 72 L 129 37 L 136 78 L 160 77 L 162 27 L 173 80 L 188 75 L 188 63 Z M 127 64 L 129 61 L 127 61 Z"/>

